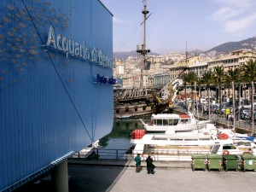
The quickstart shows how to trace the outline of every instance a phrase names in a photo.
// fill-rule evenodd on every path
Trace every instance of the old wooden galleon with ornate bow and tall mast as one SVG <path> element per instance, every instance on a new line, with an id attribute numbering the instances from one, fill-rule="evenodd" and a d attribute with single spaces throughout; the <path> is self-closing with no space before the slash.
<path id="1" fill-rule="evenodd" d="M 144 71 L 148 69 L 147 54 L 150 49 L 146 46 L 146 21 L 151 15 L 147 9 L 147 1 L 143 1 L 143 44 L 137 45 L 137 53 L 139 55 L 138 67 L 140 69 L 139 86 L 130 89 L 114 90 L 114 117 L 119 119 L 135 118 L 137 116 L 159 113 L 165 110 L 169 102 L 172 101 L 174 90 L 172 83 L 166 89 L 167 96 L 160 98 L 160 92 L 147 88 L 144 81 Z M 148 15 L 149 14 L 149 15 Z M 162 91 L 162 90 L 161 90 Z"/>

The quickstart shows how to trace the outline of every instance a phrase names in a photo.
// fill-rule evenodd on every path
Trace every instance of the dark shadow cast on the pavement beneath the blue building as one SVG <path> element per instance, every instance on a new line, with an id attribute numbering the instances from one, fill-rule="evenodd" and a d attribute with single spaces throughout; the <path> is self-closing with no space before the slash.
<path id="1" fill-rule="evenodd" d="M 96 161 L 72 160 L 68 163 L 69 192 L 101 192 L 108 191 L 128 166 L 126 160 Z M 135 168 L 134 168 L 135 172 Z M 26 183 L 14 192 L 55 192 L 50 172 L 44 177 Z"/>

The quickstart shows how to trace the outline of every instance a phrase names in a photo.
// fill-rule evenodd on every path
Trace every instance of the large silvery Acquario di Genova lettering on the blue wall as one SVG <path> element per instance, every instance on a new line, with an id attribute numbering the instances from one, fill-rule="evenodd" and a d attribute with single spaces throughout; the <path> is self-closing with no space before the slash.
<path id="1" fill-rule="evenodd" d="M 59 51 L 64 52 L 67 55 L 67 58 L 69 55 L 73 55 L 80 59 L 99 63 L 103 67 L 114 67 L 113 60 L 104 55 L 102 50 L 98 50 L 96 49 L 96 47 L 90 49 L 86 47 L 84 41 L 82 42 L 82 44 L 79 44 L 60 34 L 58 34 L 56 37 L 57 38 L 55 38 L 54 27 L 49 26 L 47 46 L 53 47 L 54 49 L 58 49 Z"/>

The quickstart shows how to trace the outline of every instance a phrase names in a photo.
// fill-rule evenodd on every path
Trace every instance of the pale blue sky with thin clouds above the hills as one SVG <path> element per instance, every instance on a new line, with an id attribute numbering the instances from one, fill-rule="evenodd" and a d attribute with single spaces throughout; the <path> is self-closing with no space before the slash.
<path id="1" fill-rule="evenodd" d="M 143 0 L 101 0 L 113 14 L 113 52 L 143 44 Z M 208 50 L 256 35 L 255 0 L 146 0 L 146 46 L 154 53 Z M 149 15 L 148 14 L 148 15 Z"/>

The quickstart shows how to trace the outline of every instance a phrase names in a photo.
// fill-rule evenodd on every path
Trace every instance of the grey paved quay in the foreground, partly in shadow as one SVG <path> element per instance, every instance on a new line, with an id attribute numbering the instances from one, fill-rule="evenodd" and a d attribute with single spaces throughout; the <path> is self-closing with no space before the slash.
<path id="1" fill-rule="evenodd" d="M 189 161 L 155 161 L 155 174 L 135 172 L 132 160 L 68 160 L 69 192 L 254 192 L 256 172 L 195 171 Z M 53 191 L 50 177 L 16 192 Z"/>

